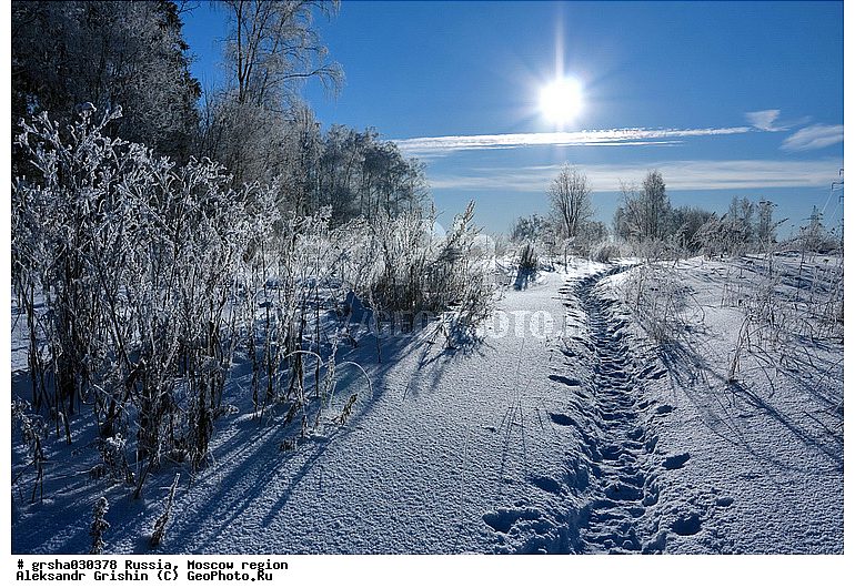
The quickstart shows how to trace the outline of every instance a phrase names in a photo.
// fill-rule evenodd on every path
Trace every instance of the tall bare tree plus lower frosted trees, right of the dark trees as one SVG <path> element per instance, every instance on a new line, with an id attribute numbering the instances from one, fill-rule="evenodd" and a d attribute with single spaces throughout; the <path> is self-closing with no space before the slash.
<path id="1" fill-rule="evenodd" d="M 333 223 L 359 215 L 416 212 L 428 195 L 423 165 L 406 160 L 373 129 L 322 133 L 299 99 L 302 82 L 336 89 L 341 68 L 326 59 L 313 18 L 336 2 L 230 0 L 218 4 L 232 26 L 232 78 L 202 109 L 201 155 L 223 162 L 232 185 L 278 185 L 283 212 L 311 215 L 330 206 Z"/>

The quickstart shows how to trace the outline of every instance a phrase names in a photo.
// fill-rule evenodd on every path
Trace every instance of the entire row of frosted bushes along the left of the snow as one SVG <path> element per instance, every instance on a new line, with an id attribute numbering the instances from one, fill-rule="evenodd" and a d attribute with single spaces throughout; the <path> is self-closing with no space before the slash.
<path id="1" fill-rule="evenodd" d="M 32 173 L 12 190 L 32 407 L 69 443 L 70 416 L 91 410 L 93 475 L 132 481 L 139 497 L 164 463 L 202 467 L 244 357 L 254 414 L 281 405 L 284 425 L 305 437 L 332 406 L 336 364 L 350 363 L 335 359 L 346 333 L 335 311 L 349 293 L 375 318 L 443 317 L 449 337 L 490 312 L 493 275 L 472 206 L 443 239 L 418 210 L 335 226 L 329 206 L 289 212 L 275 183 L 235 190 L 214 162 L 178 165 L 108 136 L 120 115 L 22 121 Z M 344 402 L 335 414 L 355 410 Z"/>

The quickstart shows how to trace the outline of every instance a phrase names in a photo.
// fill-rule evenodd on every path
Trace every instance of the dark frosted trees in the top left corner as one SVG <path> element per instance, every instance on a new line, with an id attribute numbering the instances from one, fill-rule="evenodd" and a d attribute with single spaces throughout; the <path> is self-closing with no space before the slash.
<path id="1" fill-rule="evenodd" d="M 13 1 L 12 123 L 46 111 L 72 122 L 87 102 L 122 107 L 111 132 L 185 161 L 200 87 L 181 29 L 167 0 Z"/>

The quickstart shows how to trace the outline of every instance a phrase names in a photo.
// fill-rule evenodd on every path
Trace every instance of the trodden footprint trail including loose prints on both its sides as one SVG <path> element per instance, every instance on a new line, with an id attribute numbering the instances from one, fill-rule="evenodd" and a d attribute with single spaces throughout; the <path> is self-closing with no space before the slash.
<path id="1" fill-rule="evenodd" d="M 663 457 L 655 453 L 658 437 L 650 424 L 673 407 L 643 399 L 636 386 L 643 379 L 663 377 L 666 371 L 655 363 L 636 369 L 624 334 L 627 322 L 611 316 L 608 310 L 614 302 L 593 293 L 600 280 L 618 271 L 614 267 L 580 281 L 574 290 L 561 291 L 575 294 L 582 304 L 585 316 L 580 318 L 586 322 L 590 333 L 576 343 L 593 363 L 593 377 L 585 383 L 565 375 L 549 376 L 576 389 L 586 410 L 593 412 L 592 423 L 587 424 L 566 414 L 547 413 L 555 425 L 574 427 L 580 434 L 590 460 L 590 476 L 580 464 L 572 465 L 569 472 L 574 472 L 575 477 L 565 480 L 566 489 L 574 487 L 592 499 L 577 517 L 571 517 L 573 521 L 524 501 L 485 514 L 484 521 L 497 533 L 532 527 L 534 540 L 517 546 L 516 552 L 662 552 L 668 531 L 694 535 L 701 530 L 702 520 L 695 511 L 678 516 L 663 529 L 658 515 L 645 516 L 658 503 L 658 473 L 682 468 L 691 456 L 683 453 Z M 573 357 L 575 353 L 569 351 L 566 355 Z M 564 485 L 552 478 L 533 476 L 527 481 L 555 495 L 565 491 Z"/>

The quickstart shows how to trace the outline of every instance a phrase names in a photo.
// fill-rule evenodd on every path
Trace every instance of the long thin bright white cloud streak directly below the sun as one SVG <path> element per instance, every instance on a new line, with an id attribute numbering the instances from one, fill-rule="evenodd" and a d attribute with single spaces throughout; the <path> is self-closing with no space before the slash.
<path id="1" fill-rule="evenodd" d="M 450 136 L 419 136 L 394 140 L 398 146 L 413 156 L 436 156 L 455 151 L 515 149 L 531 145 L 668 145 L 690 136 L 710 136 L 747 133 L 752 126 L 720 129 L 607 129 L 555 133 L 507 133 Z"/>

